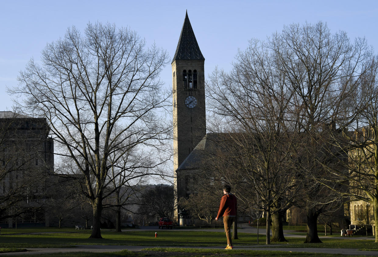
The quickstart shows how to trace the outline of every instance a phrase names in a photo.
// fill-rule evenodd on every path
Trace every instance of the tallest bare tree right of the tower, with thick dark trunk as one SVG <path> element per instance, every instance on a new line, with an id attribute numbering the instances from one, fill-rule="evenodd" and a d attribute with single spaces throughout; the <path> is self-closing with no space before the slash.
<path id="1" fill-rule="evenodd" d="M 270 48 L 293 92 L 291 102 L 299 121 L 293 130 L 306 135 L 304 147 L 296 148 L 300 152 L 294 154 L 297 165 L 308 171 L 305 184 L 313 187 L 311 194 L 304 194 L 306 197 L 297 201 L 307 211 L 305 242 L 321 242 L 317 218 L 341 201 L 340 195 L 333 195 L 319 183 L 319 178 L 332 176 L 323 169 L 323 164 L 332 162 L 324 152 L 330 144 L 327 133 L 335 129 L 332 120 L 338 115 L 345 95 L 350 93 L 346 85 L 361 75 L 370 52 L 364 39 L 350 42 L 345 32 L 332 34 L 323 22 L 285 26 L 282 33 L 273 34 Z"/>

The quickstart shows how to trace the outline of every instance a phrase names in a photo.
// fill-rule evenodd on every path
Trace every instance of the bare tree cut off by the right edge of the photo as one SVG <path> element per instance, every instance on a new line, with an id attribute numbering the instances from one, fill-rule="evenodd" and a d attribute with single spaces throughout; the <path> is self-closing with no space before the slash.
<path id="1" fill-rule="evenodd" d="M 378 56 L 371 56 L 364 71 L 353 83 L 346 84 L 352 91 L 344 97 L 340 113 L 335 117 L 338 130 L 331 133 L 333 144 L 327 149 L 339 161 L 337 169 L 325 166 L 333 177 L 332 183 L 349 188 L 342 193 L 350 201 L 363 200 L 373 208 L 378 224 Z M 332 151 L 338 149 L 337 152 Z M 335 154 L 338 153 L 338 154 Z M 322 180 L 324 184 L 328 181 Z M 337 190 L 338 188 L 332 190 Z M 367 213 L 369 215 L 369 213 Z M 361 215 L 362 216 L 362 215 Z M 368 223 L 368 218 L 363 218 Z M 375 242 L 378 243 L 378 226 Z"/>

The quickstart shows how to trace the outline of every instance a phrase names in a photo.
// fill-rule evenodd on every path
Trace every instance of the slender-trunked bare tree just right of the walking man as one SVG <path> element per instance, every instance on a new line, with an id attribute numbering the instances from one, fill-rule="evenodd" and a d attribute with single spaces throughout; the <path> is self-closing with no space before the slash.
<path id="1" fill-rule="evenodd" d="M 274 68 L 269 51 L 260 42 L 251 41 L 245 52 L 239 52 L 233 70 L 227 74 L 215 70 L 209 82 L 209 104 L 222 120 L 222 153 L 215 167 L 233 186 L 240 200 L 267 213 L 287 209 L 301 182 L 293 165 L 291 151 L 299 137 L 290 129 L 295 120 L 291 113 L 291 92 L 280 70 Z M 224 150 L 227 149 L 227 150 Z M 222 168 L 220 168 L 222 166 Z M 259 195 L 258 203 L 255 196 Z M 277 217 L 278 219 L 278 217 Z M 274 240 L 283 241 L 279 225 L 273 229 Z M 270 222 L 266 223 L 266 244 L 270 244 Z M 282 229 L 281 229 L 282 231 Z"/>

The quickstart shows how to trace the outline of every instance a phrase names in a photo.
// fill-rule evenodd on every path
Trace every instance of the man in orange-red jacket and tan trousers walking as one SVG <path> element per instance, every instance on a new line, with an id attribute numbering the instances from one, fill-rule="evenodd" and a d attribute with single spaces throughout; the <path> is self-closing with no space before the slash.
<path id="1" fill-rule="evenodd" d="M 233 249 L 231 240 L 231 225 L 235 221 L 237 203 L 235 195 L 231 194 L 231 186 L 223 186 L 223 196 L 220 200 L 218 215 L 215 220 L 223 216 L 223 224 L 225 225 L 225 232 L 227 237 L 226 250 Z"/>

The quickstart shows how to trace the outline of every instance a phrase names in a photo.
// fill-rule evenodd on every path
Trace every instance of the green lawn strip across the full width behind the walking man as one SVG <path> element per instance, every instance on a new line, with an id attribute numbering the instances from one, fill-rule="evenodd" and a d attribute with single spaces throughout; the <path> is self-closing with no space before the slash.
<path id="1" fill-rule="evenodd" d="M 139 246 L 225 246 L 224 232 L 209 231 L 125 231 L 102 232 L 103 239 L 88 238 L 90 231 L 76 233 L 0 235 L 0 244 L 7 248 L 74 247 L 75 245 L 139 245 Z M 257 245 L 257 235 L 238 233 L 234 246 Z M 320 244 L 304 244 L 304 238 L 290 238 L 290 242 L 272 243 L 272 247 L 294 248 L 356 248 L 377 249 L 374 240 L 358 240 L 345 237 L 322 238 Z M 259 235 L 259 245 L 265 244 L 265 236 Z"/>

